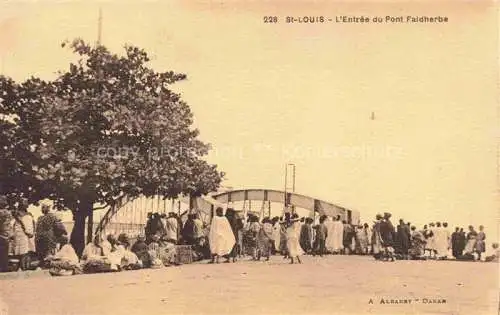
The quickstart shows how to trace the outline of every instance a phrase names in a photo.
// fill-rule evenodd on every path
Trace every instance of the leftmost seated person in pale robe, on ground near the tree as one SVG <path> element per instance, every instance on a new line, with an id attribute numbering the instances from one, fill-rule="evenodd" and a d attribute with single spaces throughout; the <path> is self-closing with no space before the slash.
<path id="1" fill-rule="evenodd" d="M 61 249 L 55 255 L 49 255 L 46 259 L 49 262 L 49 273 L 52 276 L 69 276 L 80 274 L 80 264 L 78 256 L 68 238 L 64 235 L 60 238 Z"/>

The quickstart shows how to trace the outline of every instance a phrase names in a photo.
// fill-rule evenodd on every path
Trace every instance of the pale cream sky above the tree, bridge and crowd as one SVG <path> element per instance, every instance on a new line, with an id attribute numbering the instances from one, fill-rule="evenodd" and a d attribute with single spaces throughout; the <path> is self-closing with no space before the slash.
<path id="1" fill-rule="evenodd" d="M 201 2 L 200 2 L 201 3 Z M 0 4 L 0 70 L 54 78 L 60 44 L 146 49 L 191 106 L 227 186 L 296 191 L 421 226 L 497 234 L 498 38 L 492 2 L 60 2 Z M 264 24 L 277 15 L 279 24 Z M 286 24 L 294 16 L 442 15 L 447 24 Z M 372 112 L 375 119 L 371 120 Z M 490 238 L 491 240 L 491 238 Z"/>

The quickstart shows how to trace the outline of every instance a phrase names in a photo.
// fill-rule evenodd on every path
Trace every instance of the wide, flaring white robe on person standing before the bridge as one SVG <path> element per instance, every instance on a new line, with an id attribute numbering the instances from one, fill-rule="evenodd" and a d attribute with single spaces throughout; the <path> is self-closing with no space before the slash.
<path id="1" fill-rule="evenodd" d="M 212 218 L 208 241 L 212 255 L 223 256 L 231 252 L 236 240 L 226 217 Z"/>

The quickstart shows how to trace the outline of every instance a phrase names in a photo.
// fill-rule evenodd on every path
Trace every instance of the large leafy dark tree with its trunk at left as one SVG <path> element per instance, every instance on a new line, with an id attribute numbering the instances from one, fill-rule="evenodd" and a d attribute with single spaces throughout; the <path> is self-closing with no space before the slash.
<path id="1" fill-rule="evenodd" d="M 80 254 L 95 204 L 112 205 L 121 195 L 202 195 L 219 187 L 223 173 L 204 160 L 209 145 L 198 139 L 189 106 L 170 89 L 186 75 L 154 71 L 137 47 L 126 46 L 123 56 L 82 40 L 69 47 L 78 61 L 54 81 L 0 80 L 0 114 L 15 117 L 0 124 L 2 135 L 9 134 L 3 150 L 12 152 L 4 163 L 24 174 L 14 185 L 20 188 L 2 189 L 71 209 L 71 243 Z M 17 165 L 20 156 L 26 158 Z"/>

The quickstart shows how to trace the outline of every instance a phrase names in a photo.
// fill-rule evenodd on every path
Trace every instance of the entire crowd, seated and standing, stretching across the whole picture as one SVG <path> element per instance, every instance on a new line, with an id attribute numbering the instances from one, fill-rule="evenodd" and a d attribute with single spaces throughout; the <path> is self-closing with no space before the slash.
<path id="1" fill-rule="evenodd" d="M 493 255 L 484 255 L 483 226 L 479 231 L 469 226 L 468 233 L 457 227 L 450 233 L 446 222 L 436 222 L 419 230 L 402 219 L 394 226 L 391 217 L 379 214 L 372 225 L 353 225 L 339 215 L 300 218 L 285 213 L 260 220 L 252 213 L 244 217 L 232 208 L 217 208 L 210 224 L 205 224 L 196 213 L 188 214 L 184 222 L 174 212 L 148 213 L 144 233 L 134 242 L 125 233 L 96 235 L 82 253 L 76 253 L 49 206 L 42 205 L 42 215 L 35 222 L 27 201 L 12 211 L 0 196 L 0 271 L 9 271 L 12 258 L 22 264 L 24 257 L 31 257 L 26 264 L 37 261 L 36 267 L 48 268 L 52 275 L 162 268 L 180 264 L 181 246 L 189 248 L 189 262 L 208 259 L 209 263 L 219 263 L 220 258 L 229 263 L 244 256 L 259 261 L 282 255 L 300 264 L 303 255 L 330 254 L 373 255 L 381 261 L 451 257 L 498 261 L 497 243 L 492 244 Z"/>

